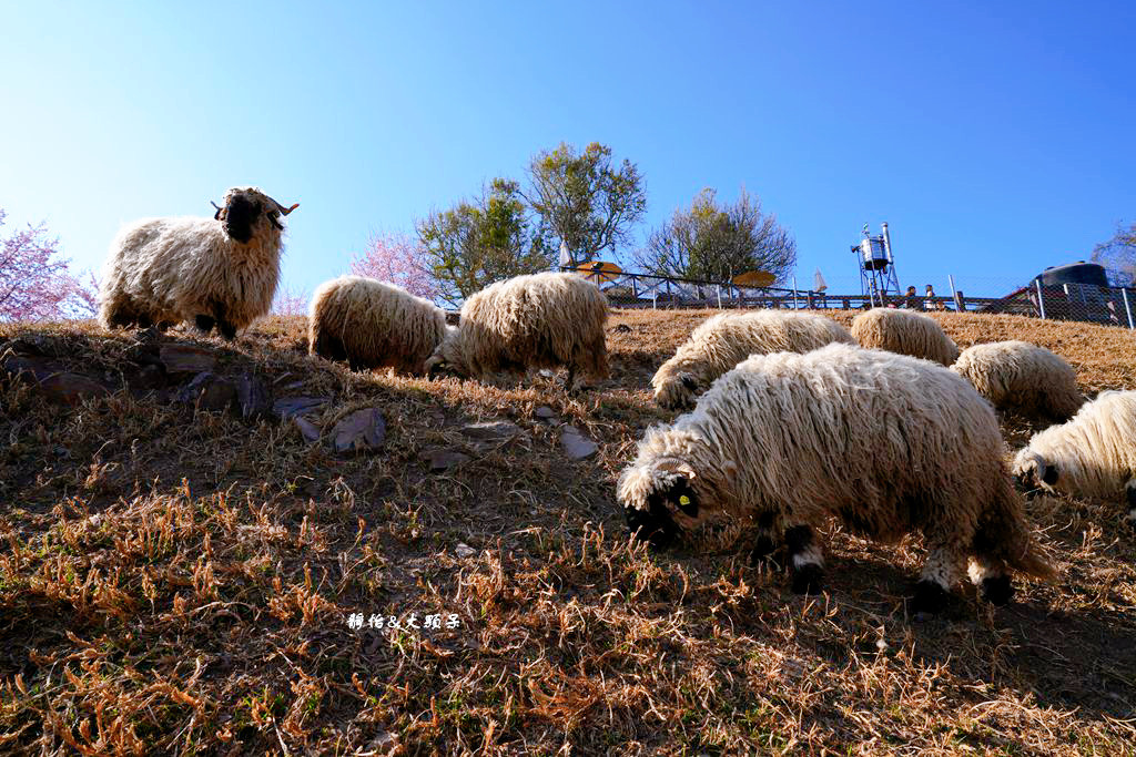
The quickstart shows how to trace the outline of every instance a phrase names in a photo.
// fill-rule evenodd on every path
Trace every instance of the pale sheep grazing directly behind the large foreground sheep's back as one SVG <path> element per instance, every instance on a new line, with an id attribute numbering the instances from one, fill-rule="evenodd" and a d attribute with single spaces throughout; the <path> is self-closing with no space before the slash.
<path id="1" fill-rule="evenodd" d="M 703 321 L 651 379 L 654 399 L 687 409 L 716 378 L 751 354 L 809 352 L 833 342 L 854 344 L 849 330 L 824 316 L 765 310 Z"/>

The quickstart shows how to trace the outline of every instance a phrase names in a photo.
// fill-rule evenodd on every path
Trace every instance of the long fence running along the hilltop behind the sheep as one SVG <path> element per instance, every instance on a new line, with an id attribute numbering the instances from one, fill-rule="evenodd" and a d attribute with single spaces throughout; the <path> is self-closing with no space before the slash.
<path id="1" fill-rule="evenodd" d="M 784 287 L 740 287 L 673 276 L 613 274 L 591 268 L 562 268 L 595 281 L 613 308 L 653 309 L 790 309 L 867 310 L 880 304 L 866 294 L 830 294 Z M 1006 287 L 1012 288 L 1012 287 Z M 1012 313 L 1033 318 L 1088 321 L 1136 328 L 1136 289 L 1085 284 L 1019 286 L 1003 297 L 967 296 L 961 288 L 950 295 L 889 296 L 886 306 L 928 311 Z"/>

